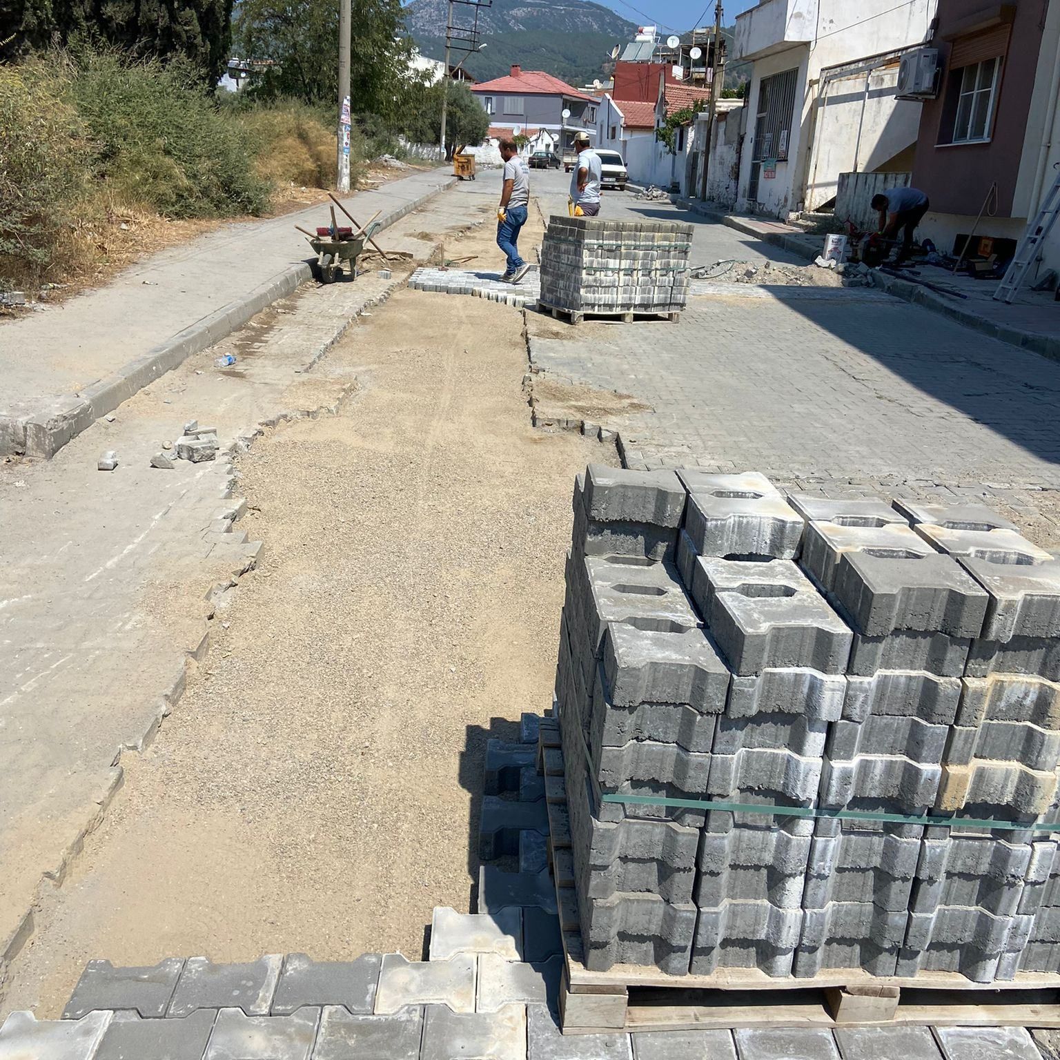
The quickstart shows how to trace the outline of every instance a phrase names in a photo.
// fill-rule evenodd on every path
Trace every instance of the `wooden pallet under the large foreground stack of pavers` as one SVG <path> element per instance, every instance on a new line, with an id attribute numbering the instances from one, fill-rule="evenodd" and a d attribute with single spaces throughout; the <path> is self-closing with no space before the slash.
<path id="1" fill-rule="evenodd" d="M 670 975 L 636 965 L 589 971 L 554 718 L 542 720 L 537 766 L 545 775 L 549 867 L 563 935 L 560 1012 L 565 1035 L 888 1024 L 1060 1028 L 1060 974 L 1023 972 L 984 987 L 956 972 L 903 978 L 841 969 L 812 978 L 777 979 L 754 968 L 719 969 L 710 975 Z"/>

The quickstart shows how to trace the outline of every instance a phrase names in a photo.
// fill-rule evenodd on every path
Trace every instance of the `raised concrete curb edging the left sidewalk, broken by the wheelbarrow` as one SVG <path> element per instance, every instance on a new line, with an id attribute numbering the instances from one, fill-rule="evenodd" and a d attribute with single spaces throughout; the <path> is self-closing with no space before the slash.
<path id="1" fill-rule="evenodd" d="M 379 220 L 379 230 L 389 228 L 437 195 L 448 191 L 456 182 L 456 177 L 444 179 L 436 191 L 410 199 L 384 214 Z M 31 412 L 18 418 L 0 417 L 0 456 L 22 453 L 28 457 L 51 459 L 70 439 L 91 426 L 100 417 L 116 409 L 192 354 L 231 335 L 273 302 L 293 295 L 312 277 L 313 270 L 305 262 L 290 265 L 242 298 L 229 302 L 154 347 L 142 357 L 123 365 L 117 372 L 98 379 L 76 394 L 64 394 L 50 401 L 49 404 L 53 406 L 50 411 Z"/>

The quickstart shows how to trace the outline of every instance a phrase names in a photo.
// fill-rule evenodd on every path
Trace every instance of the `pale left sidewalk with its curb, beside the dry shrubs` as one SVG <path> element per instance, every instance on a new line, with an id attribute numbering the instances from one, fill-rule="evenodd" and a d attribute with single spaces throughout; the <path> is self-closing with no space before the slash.
<path id="1" fill-rule="evenodd" d="M 346 199 L 384 228 L 453 183 L 418 172 Z M 0 326 L 0 456 L 51 457 L 163 372 L 217 342 L 311 277 L 295 225 L 326 224 L 317 205 L 242 222 L 140 262 L 112 283 Z"/>

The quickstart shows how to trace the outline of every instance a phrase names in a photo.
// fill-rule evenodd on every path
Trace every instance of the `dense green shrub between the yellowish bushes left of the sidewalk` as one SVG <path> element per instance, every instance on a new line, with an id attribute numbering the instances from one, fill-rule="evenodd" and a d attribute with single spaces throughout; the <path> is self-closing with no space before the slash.
<path id="1" fill-rule="evenodd" d="M 94 144 L 95 176 L 116 195 L 167 217 L 267 208 L 250 130 L 217 106 L 190 68 L 85 52 L 72 95 Z"/>

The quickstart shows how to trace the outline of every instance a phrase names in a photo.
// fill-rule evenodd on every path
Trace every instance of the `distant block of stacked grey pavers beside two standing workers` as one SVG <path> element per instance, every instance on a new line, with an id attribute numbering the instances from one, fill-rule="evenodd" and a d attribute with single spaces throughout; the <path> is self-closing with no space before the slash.
<path id="1" fill-rule="evenodd" d="M 552 216 L 541 301 L 568 313 L 677 313 L 688 300 L 692 226 Z"/>

